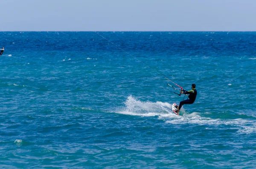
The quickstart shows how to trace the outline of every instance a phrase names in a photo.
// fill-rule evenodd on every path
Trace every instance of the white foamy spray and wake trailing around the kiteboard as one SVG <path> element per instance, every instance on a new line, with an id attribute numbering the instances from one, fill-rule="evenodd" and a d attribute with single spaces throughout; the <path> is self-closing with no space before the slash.
<path id="1" fill-rule="evenodd" d="M 119 114 L 134 115 L 141 117 L 154 117 L 158 116 L 159 119 L 165 119 L 165 123 L 172 123 L 174 125 L 183 124 L 196 124 L 196 125 L 208 125 L 216 126 L 218 129 L 222 129 L 223 125 L 227 128 L 237 129 L 239 134 L 251 134 L 256 133 L 256 120 L 255 119 L 213 119 L 210 117 L 204 117 L 203 113 L 192 112 L 188 113 L 183 108 L 180 110 L 181 115 L 175 115 L 172 112 L 172 104 L 157 102 L 143 102 L 136 98 L 129 96 L 124 102 L 125 107 L 118 111 Z M 209 113 L 205 113 L 209 116 Z M 221 126 L 221 127 L 219 127 Z M 225 129 L 225 127 L 224 127 Z"/>

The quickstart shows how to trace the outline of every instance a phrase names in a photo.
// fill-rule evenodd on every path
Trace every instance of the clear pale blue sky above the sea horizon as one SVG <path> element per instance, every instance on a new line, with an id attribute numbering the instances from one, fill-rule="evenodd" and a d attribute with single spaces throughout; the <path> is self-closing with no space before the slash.
<path id="1" fill-rule="evenodd" d="M 0 0 L 0 31 L 256 31 L 256 0 Z"/>

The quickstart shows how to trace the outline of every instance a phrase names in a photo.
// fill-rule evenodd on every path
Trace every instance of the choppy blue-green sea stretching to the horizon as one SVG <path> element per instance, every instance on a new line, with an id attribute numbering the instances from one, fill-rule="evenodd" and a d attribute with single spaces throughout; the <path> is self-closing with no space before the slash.
<path id="1" fill-rule="evenodd" d="M 256 168 L 256 32 L 0 32 L 0 168 Z M 195 83 L 180 115 L 172 93 Z"/>

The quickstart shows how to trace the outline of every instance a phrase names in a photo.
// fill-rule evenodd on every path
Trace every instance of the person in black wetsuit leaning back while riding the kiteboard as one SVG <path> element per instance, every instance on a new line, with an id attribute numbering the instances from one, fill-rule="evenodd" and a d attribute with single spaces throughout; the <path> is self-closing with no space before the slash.
<path id="1" fill-rule="evenodd" d="M 192 90 L 189 90 L 189 91 L 186 91 L 186 90 L 183 90 L 182 89 L 182 94 L 185 94 L 185 95 L 189 95 L 189 99 L 187 100 L 183 100 L 180 102 L 180 105 L 179 106 L 176 106 L 176 108 L 178 109 L 177 110 L 177 114 L 179 114 L 180 112 L 180 109 L 181 107 L 184 105 L 184 104 L 193 104 L 195 102 L 195 98 L 196 98 L 196 95 L 197 95 L 197 91 L 195 89 L 195 84 L 193 83 L 192 86 L 191 86 Z"/>

